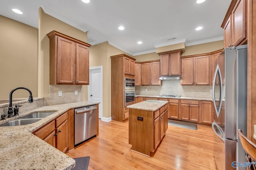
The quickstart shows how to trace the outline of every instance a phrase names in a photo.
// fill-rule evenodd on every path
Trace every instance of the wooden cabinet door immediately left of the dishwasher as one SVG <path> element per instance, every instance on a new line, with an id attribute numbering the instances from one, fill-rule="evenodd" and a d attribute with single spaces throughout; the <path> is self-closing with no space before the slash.
<path id="1" fill-rule="evenodd" d="M 56 148 L 62 152 L 68 149 L 68 121 L 56 128 Z"/>

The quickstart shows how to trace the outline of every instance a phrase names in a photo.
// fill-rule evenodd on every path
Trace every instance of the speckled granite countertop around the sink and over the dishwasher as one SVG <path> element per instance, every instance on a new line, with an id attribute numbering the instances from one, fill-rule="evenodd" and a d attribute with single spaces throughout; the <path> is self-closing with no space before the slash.
<path id="1" fill-rule="evenodd" d="M 70 170 L 75 160 L 32 134 L 46 123 L 72 108 L 98 104 L 99 102 L 74 102 L 42 106 L 20 113 L 20 116 L 0 121 L 3 124 L 37 111 L 56 111 L 52 115 L 29 125 L 0 127 L 0 169 Z"/>

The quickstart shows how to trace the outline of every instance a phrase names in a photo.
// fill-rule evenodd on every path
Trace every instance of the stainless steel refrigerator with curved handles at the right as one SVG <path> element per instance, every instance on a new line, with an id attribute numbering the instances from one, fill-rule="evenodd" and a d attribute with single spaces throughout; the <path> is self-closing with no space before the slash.
<path id="1" fill-rule="evenodd" d="M 246 160 L 237 130 L 246 135 L 247 45 L 225 48 L 214 65 L 214 160 L 218 170 L 243 170 L 239 162 Z"/>

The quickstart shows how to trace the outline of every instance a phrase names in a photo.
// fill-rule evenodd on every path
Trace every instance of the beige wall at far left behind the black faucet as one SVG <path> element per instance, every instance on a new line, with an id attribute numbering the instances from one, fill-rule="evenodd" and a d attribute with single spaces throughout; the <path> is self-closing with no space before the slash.
<path id="1" fill-rule="evenodd" d="M 0 16 L 0 100 L 9 99 L 17 87 L 37 93 L 38 29 Z M 26 90 L 17 90 L 13 98 L 28 98 Z"/>

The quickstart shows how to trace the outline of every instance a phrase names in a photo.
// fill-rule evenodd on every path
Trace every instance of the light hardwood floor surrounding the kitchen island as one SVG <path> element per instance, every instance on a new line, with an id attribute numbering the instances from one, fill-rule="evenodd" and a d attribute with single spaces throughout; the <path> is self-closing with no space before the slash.
<path id="1" fill-rule="evenodd" d="M 131 151 L 128 121 L 99 121 L 99 137 L 66 153 L 72 158 L 90 156 L 88 170 L 216 170 L 213 131 L 168 125 L 162 143 L 150 158 Z"/>

